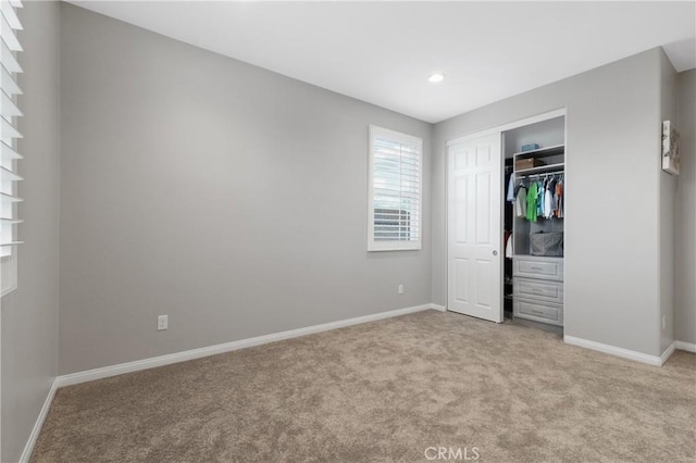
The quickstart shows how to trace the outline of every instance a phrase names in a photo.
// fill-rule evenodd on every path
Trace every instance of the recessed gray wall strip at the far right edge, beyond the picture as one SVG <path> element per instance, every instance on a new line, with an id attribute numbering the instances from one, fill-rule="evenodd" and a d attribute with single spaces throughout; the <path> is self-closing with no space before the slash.
<path id="1" fill-rule="evenodd" d="M 696 343 L 696 70 L 678 75 L 682 168 L 676 180 L 676 313 L 674 337 Z"/>

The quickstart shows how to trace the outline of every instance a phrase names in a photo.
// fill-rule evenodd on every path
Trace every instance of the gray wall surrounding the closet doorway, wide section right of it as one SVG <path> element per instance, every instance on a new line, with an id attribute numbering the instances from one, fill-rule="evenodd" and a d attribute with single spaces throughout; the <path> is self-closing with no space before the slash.
<path id="1" fill-rule="evenodd" d="M 446 301 L 446 141 L 566 107 L 566 334 L 661 353 L 661 53 L 649 50 L 435 125 L 433 302 Z"/>

